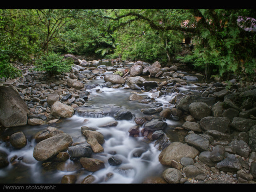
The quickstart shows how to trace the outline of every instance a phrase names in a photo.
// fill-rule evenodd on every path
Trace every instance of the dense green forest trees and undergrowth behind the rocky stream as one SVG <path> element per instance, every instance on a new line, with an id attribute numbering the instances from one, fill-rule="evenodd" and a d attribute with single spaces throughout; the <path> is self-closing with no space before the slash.
<path id="1" fill-rule="evenodd" d="M 179 59 L 205 78 L 255 80 L 255 18 L 252 9 L 0 9 L 0 78 L 20 75 L 12 62 L 64 72 L 57 53 L 70 53 L 162 66 Z"/>

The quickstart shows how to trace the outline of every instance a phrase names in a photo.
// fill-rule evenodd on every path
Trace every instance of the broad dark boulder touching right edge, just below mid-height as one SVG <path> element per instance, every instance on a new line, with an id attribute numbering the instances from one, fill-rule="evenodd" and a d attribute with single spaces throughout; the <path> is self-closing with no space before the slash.
<path id="1" fill-rule="evenodd" d="M 230 126 L 233 128 L 241 131 L 241 132 L 248 132 L 252 126 L 256 125 L 256 120 L 242 118 L 242 117 L 235 117 L 233 118 Z"/>

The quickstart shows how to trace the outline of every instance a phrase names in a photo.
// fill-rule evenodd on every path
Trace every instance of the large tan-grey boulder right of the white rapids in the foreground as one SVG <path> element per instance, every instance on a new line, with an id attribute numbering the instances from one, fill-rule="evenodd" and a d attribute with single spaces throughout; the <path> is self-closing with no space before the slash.
<path id="1" fill-rule="evenodd" d="M 195 158 L 199 154 L 199 151 L 181 142 L 172 142 L 169 146 L 164 148 L 159 154 L 159 162 L 166 166 L 171 166 L 171 160 L 180 162 L 182 157 Z"/>

